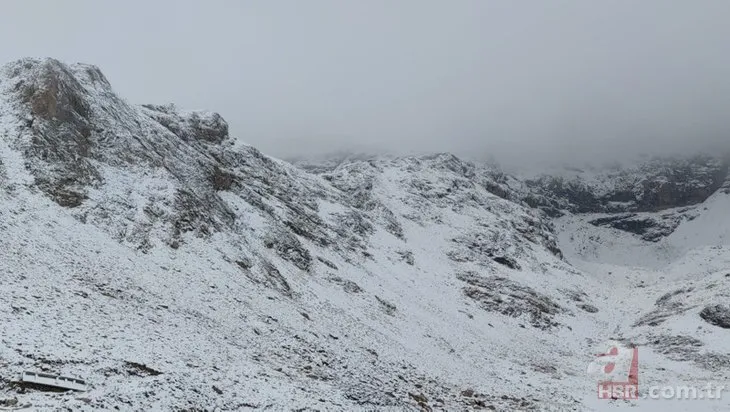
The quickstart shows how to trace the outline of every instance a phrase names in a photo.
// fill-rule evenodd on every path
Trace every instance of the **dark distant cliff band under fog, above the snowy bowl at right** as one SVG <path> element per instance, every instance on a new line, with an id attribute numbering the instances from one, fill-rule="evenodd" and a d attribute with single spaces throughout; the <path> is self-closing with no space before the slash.
<path id="1" fill-rule="evenodd" d="M 571 169 L 524 181 L 523 200 L 552 217 L 596 215 L 590 222 L 658 241 L 725 190 L 727 156 L 657 158 L 615 170 Z"/>

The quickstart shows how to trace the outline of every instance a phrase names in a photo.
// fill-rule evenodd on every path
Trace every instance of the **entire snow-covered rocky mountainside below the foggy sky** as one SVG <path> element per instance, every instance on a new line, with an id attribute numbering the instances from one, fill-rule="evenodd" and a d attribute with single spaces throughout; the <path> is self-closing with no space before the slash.
<path id="1" fill-rule="evenodd" d="M 0 136 L 3 405 L 659 402 L 596 399 L 609 339 L 641 347 L 642 384 L 727 375 L 723 158 L 529 178 L 449 154 L 293 165 L 52 59 L 0 70 Z"/>

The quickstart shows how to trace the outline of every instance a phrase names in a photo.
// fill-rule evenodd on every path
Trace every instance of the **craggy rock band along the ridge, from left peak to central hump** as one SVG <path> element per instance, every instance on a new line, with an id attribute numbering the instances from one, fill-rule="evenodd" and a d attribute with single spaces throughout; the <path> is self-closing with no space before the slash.
<path id="1" fill-rule="evenodd" d="M 413 206 L 413 220 L 426 219 L 421 213 L 429 208 L 505 205 L 495 209 L 498 216 L 519 209 L 524 236 L 559 254 L 546 222 L 493 199 L 484 171 L 450 155 L 353 162 L 322 180 L 254 148 L 234 147 L 216 113 L 131 106 L 93 66 L 23 60 L 4 73 L 18 125 L 11 143 L 22 151 L 36 186 L 80 220 L 141 250 L 157 243 L 179 247 L 186 233 L 245 237 L 234 210 L 245 204 L 273 226 L 271 247 L 308 269 L 310 253 L 298 239 L 342 253 L 364 252 L 373 224 L 403 239 L 401 216 L 392 210 L 402 201 Z M 385 206 L 372 192 L 381 176 L 394 176 L 389 183 L 410 196 Z M 323 218 L 321 201 L 344 209 Z"/>

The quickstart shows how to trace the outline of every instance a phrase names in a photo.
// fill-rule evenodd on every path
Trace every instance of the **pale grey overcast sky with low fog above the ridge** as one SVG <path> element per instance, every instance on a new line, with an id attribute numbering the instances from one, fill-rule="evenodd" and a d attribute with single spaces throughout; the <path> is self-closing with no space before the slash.
<path id="1" fill-rule="evenodd" d="M 727 0 L 18 0 L 0 36 L 280 157 L 730 141 Z"/>

